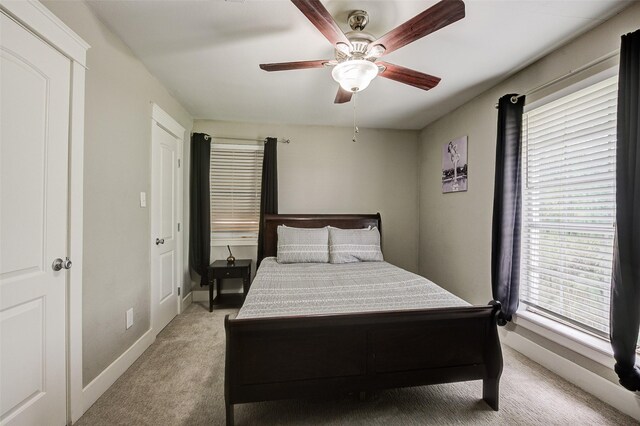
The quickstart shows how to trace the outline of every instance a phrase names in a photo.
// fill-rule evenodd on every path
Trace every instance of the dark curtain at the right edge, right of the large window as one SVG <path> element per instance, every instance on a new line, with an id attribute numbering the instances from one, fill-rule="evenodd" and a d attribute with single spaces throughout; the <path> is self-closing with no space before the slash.
<path id="1" fill-rule="evenodd" d="M 640 30 L 622 36 L 618 76 L 616 241 L 611 279 L 611 346 L 625 388 L 640 390 Z"/>

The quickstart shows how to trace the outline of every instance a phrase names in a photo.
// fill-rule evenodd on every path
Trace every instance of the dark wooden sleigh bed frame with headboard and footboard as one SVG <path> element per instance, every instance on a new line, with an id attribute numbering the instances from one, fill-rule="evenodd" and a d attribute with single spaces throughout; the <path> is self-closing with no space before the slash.
<path id="1" fill-rule="evenodd" d="M 376 215 L 265 215 L 264 257 L 277 226 L 381 228 Z M 260 261 L 261 259 L 259 259 Z M 234 404 L 482 380 L 498 410 L 500 304 L 339 315 L 224 320 L 225 408 Z"/>

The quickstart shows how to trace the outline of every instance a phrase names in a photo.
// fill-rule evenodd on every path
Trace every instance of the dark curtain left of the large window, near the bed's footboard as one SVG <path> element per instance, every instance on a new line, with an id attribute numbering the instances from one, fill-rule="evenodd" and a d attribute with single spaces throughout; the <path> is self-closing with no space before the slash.
<path id="1" fill-rule="evenodd" d="M 524 96 L 498 102 L 498 138 L 493 194 L 491 287 L 502 304 L 498 324 L 505 325 L 518 309 L 520 286 L 521 145 Z"/>

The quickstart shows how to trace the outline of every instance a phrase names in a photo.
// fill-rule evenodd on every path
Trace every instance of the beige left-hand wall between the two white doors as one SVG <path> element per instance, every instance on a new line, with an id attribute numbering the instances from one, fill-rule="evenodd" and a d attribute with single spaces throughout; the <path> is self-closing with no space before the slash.
<path id="1" fill-rule="evenodd" d="M 150 327 L 151 102 L 187 131 L 189 113 L 83 2 L 44 1 L 91 45 L 84 158 L 83 382 Z M 148 204 L 149 205 L 149 204 Z M 125 329 L 125 312 L 134 325 Z"/>

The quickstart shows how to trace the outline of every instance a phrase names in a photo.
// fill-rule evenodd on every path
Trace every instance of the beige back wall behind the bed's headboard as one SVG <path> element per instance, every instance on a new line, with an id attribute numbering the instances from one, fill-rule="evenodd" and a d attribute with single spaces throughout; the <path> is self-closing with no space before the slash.
<path id="1" fill-rule="evenodd" d="M 291 139 L 278 144 L 280 213 L 380 212 L 385 259 L 418 271 L 416 131 L 360 129 L 354 143 L 350 128 L 209 120 L 193 126 L 212 136 Z M 232 250 L 255 260 L 255 247 Z M 227 255 L 226 248 L 212 250 L 213 259 Z"/>

